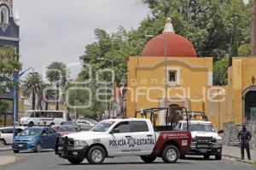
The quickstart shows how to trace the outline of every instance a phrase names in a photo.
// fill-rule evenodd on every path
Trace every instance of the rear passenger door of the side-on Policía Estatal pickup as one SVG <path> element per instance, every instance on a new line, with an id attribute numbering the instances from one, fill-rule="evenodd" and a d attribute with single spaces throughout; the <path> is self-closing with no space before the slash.
<path id="1" fill-rule="evenodd" d="M 148 128 L 145 121 L 131 121 L 131 138 L 134 139 L 132 148 L 132 156 L 148 156 L 154 150 L 155 133 L 153 129 Z"/>

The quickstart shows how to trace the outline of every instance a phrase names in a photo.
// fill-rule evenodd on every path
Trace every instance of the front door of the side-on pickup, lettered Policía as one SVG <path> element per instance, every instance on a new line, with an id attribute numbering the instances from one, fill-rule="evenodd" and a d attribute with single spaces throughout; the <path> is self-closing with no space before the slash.
<path id="1" fill-rule="evenodd" d="M 131 137 L 129 122 L 119 122 L 113 127 L 108 141 L 109 156 L 130 155 L 128 139 Z"/>

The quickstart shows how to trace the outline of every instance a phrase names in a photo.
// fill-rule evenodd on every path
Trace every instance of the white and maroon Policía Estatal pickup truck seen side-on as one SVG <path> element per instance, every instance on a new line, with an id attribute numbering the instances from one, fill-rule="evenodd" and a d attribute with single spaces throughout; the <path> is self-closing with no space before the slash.
<path id="1" fill-rule="evenodd" d="M 99 164 L 105 157 L 115 156 L 141 156 L 145 162 L 161 157 L 166 163 L 173 163 L 190 149 L 190 144 L 189 131 L 156 132 L 146 118 L 108 119 L 90 131 L 58 137 L 55 154 L 73 164 L 85 158 Z"/>

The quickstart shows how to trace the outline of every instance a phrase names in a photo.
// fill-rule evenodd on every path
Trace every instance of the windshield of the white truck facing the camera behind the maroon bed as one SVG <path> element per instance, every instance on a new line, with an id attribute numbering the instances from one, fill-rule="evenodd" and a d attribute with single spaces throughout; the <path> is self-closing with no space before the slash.
<path id="1" fill-rule="evenodd" d="M 183 125 L 183 130 L 187 130 L 187 124 Z M 211 132 L 215 133 L 216 130 L 210 123 L 191 123 L 189 125 L 189 131 L 194 132 L 194 131 L 201 131 L 201 132 Z"/>

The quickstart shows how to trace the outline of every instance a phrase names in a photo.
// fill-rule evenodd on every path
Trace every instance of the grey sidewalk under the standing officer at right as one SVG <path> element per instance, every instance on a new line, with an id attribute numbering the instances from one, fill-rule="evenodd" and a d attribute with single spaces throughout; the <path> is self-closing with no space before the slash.
<path id="1" fill-rule="evenodd" d="M 247 163 L 256 162 L 256 150 L 251 150 L 252 161 L 247 160 L 247 152 L 246 152 L 246 150 L 244 150 L 244 151 L 245 151 L 245 160 L 244 160 L 244 162 L 247 162 Z M 241 159 L 241 150 L 240 150 L 239 147 L 224 145 L 223 150 L 222 150 L 222 154 L 223 154 L 223 156 L 235 158 L 237 161 L 240 161 L 240 159 Z"/>

